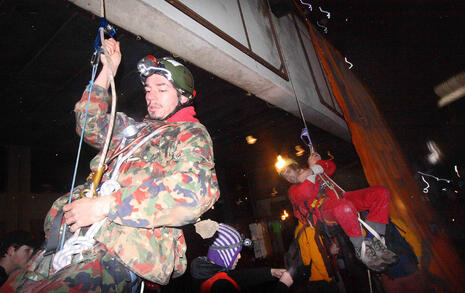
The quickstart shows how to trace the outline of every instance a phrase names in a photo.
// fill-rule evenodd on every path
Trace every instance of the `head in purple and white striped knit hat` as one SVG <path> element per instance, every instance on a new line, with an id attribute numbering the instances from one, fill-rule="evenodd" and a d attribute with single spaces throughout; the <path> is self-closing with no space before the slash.
<path id="1" fill-rule="evenodd" d="M 208 248 L 207 258 L 214 264 L 234 270 L 241 258 L 243 239 L 231 226 L 220 224 L 218 236 Z"/>

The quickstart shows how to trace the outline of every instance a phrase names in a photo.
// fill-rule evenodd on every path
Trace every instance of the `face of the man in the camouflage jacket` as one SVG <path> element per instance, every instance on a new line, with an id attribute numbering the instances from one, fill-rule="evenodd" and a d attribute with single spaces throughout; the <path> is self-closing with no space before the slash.
<path id="1" fill-rule="evenodd" d="M 150 118 L 164 120 L 178 105 L 177 91 L 164 76 L 152 74 L 145 82 L 145 101 Z"/>

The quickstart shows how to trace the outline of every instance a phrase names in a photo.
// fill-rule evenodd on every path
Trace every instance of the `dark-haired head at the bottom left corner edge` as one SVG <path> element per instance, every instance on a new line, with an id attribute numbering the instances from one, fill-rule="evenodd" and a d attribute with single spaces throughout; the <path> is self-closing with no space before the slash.
<path id="1" fill-rule="evenodd" d="M 34 251 L 34 246 L 34 240 L 25 231 L 6 234 L 0 244 L 0 266 L 7 274 L 25 267 Z"/>

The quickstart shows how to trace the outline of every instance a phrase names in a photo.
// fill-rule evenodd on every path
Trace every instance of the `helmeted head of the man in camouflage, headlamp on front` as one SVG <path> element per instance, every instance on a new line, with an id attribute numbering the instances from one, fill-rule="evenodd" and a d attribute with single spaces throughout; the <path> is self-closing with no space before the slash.
<path id="1" fill-rule="evenodd" d="M 145 56 L 137 64 L 145 89 L 145 101 L 150 119 L 166 120 L 184 107 L 192 105 L 195 97 L 192 73 L 170 58 Z"/>

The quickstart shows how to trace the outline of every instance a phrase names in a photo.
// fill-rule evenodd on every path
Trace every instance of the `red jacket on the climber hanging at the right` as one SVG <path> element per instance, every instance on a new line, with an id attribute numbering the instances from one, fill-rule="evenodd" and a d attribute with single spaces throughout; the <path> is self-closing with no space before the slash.
<path id="1" fill-rule="evenodd" d="M 321 160 L 318 161 L 317 164 L 323 167 L 324 172 L 328 176 L 331 176 L 334 171 L 336 171 L 336 164 L 334 164 L 333 161 Z M 321 182 L 322 180 L 320 176 L 316 176 L 315 183 L 312 183 L 309 179 L 307 179 L 304 182 L 294 184 L 289 188 L 289 199 L 291 200 L 294 209 L 294 216 L 304 224 L 308 224 L 308 220 L 313 218 L 310 213 L 313 213 L 313 211 L 322 203 L 320 197 L 316 200 L 317 195 L 320 192 Z M 324 193 L 331 198 L 337 198 L 334 191 L 328 187 L 325 187 Z M 317 214 L 319 213 L 317 212 Z"/>

